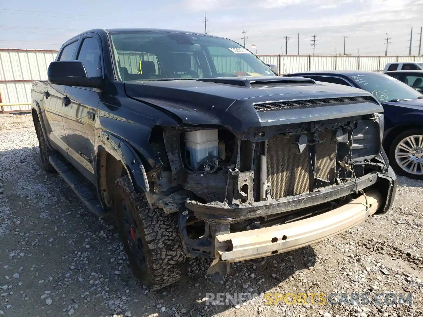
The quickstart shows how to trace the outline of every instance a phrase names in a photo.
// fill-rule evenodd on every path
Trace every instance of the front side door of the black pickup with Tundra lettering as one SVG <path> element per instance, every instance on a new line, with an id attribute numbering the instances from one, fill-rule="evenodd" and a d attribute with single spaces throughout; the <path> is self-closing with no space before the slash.
<path id="1" fill-rule="evenodd" d="M 88 77 L 102 76 L 101 39 L 95 33 L 80 38 L 76 60 L 80 60 Z M 68 141 L 69 161 L 91 182 L 96 183 L 94 140 L 96 135 L 99 90 L 90 87 L 66 88 L 68 106 L 63 107 L 63 126 Z"/>

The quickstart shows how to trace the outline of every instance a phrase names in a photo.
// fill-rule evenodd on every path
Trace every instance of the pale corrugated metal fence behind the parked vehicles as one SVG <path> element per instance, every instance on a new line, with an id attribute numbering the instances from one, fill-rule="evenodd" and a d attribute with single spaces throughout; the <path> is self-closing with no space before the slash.
<path id="1" fill-rule="evenodd" d="M 30 110 L 28 103 L 31 102 L 31 84 L 33 80 L 47 79 L 47 68 L 55 59 L 57 52 L 38 49 L 0 49 L 0 104 L 16 104 L 1 107 L 1 112 Z M 382 71 L 386 63 L 390 62 L 423 63 L 423 56 L 258 55 L 258 57 L 266 64 L 276 65 L 279 74 L 336 69 Z M 233 60 L 222 60 L 223 57 L 220 56 L 213 58 L 217 67 L 222 69 L 225 65 L 234 63 Z M 149 57 L 142 59 L 152 60 Z M 128 63 L 132 65 L 132 61 L 128 60 Z M 242 66 L 240 70 L 251 71 L 247 65 L 240 66 Z"/>

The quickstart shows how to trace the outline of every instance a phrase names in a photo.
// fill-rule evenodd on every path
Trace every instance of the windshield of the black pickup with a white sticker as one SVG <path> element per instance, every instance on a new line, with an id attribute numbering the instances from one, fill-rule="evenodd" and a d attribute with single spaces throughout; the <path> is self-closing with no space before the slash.
<path id="1" fill-rule="evenodd" d="M 276 76 L 243 46 L 224 38 L 152 31 L 110 38 L 122 81 Z"/>

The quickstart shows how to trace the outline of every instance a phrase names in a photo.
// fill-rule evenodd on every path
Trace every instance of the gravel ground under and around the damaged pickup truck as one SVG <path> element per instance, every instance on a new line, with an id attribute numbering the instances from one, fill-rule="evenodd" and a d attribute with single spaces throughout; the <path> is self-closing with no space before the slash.
<path id="1" fill-rule="evenodd" d="M 0 126 L 14 128 L 14 120 L 32 124 L 25 115 L 0 118 Z M 263 266 L 232 265 L 221 283 L 204 277 L 208 261 L 190 260 L 180 283 L 153 292 L 129 270 L 113 217 L 97 219 L 58 175 L 40 166 L 33 128 L 0 134 L 0 315 L 423 315 L 422 181 L 400 178 L 387 215 L 334 238 L 275 255 Z M 205 301 L 207 293 L 246 292 L 255 295 L 228 305 Z M 311 305 L 308 299 L 269 306 L 266 292 L 367 292 L 370 298 L 411 292 L 413 303 Z"/>

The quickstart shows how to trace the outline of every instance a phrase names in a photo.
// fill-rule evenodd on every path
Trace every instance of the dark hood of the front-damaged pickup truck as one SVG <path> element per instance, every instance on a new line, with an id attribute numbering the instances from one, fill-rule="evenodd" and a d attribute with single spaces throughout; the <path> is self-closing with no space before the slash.
<path id="1" fill-rule="evenodd" d="M 227 77 L 198 80 L 151 80 L 125 82 L 127 96 L 176 116 L 183 125 L 219 125 L 245 131 L 251 127 L 275 126 L 382 112 L 370 93 L 341 86 L 317 85 L 299 77 Z M 370 97 L 357 104 L 282 107 L 256 111 L 256 104 Z M 336 99 L 339 100 L 339 99 Z"/>

